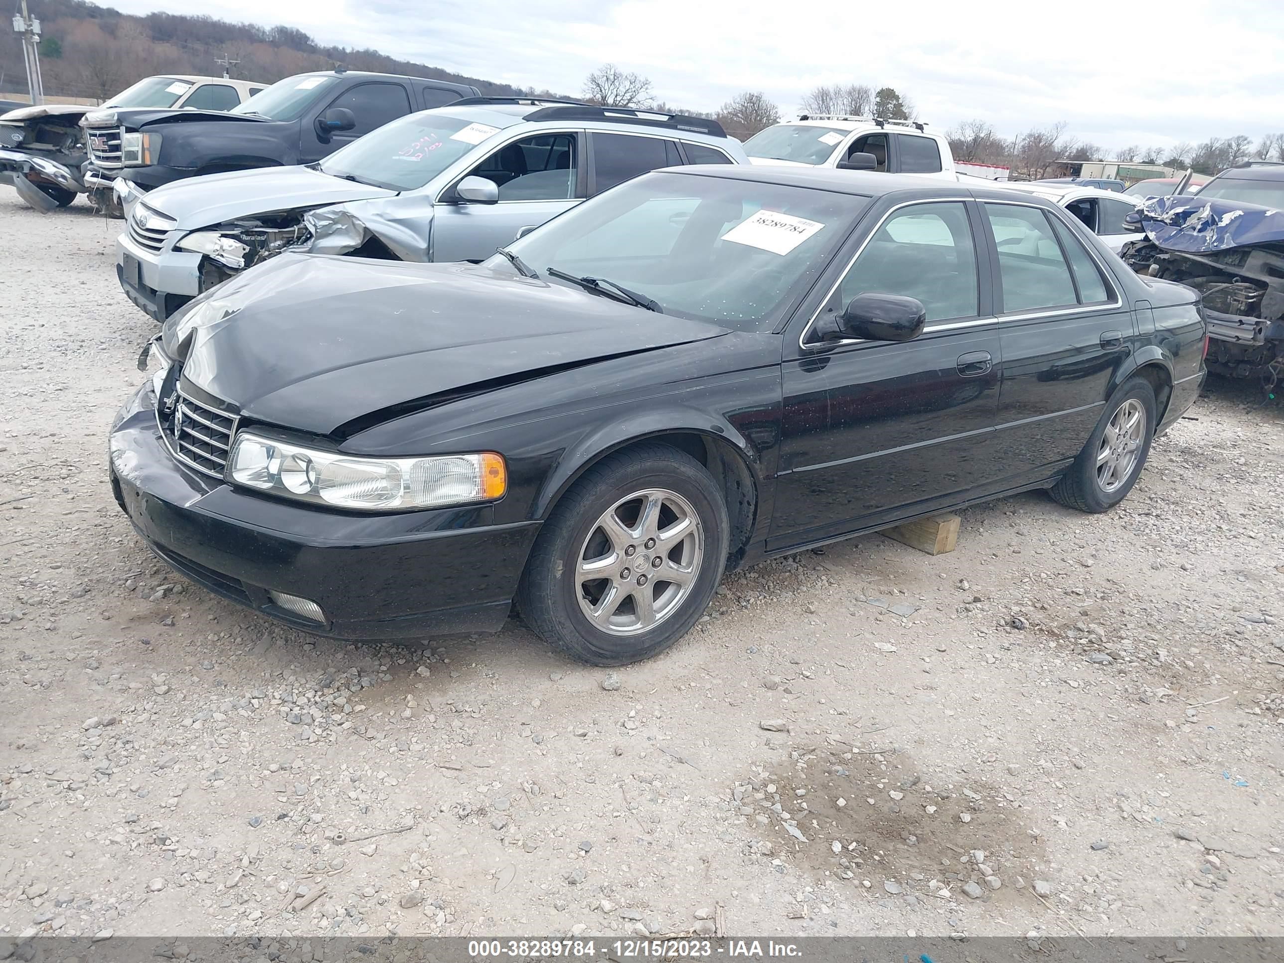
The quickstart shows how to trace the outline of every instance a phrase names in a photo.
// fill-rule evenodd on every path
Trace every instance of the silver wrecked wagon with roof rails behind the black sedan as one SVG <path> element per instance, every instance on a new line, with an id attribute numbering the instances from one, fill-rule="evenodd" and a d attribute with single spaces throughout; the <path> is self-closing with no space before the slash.
<path id="1" fill-rule="evenodd" d="M 158 187 L 130 205 L 116 271 L 130 300 L 163 321 L 286 249 L 479 261 L 639 173 L 745 163 L 716 121 L 467 98 L 393 121 L 316 164 Z"/>

